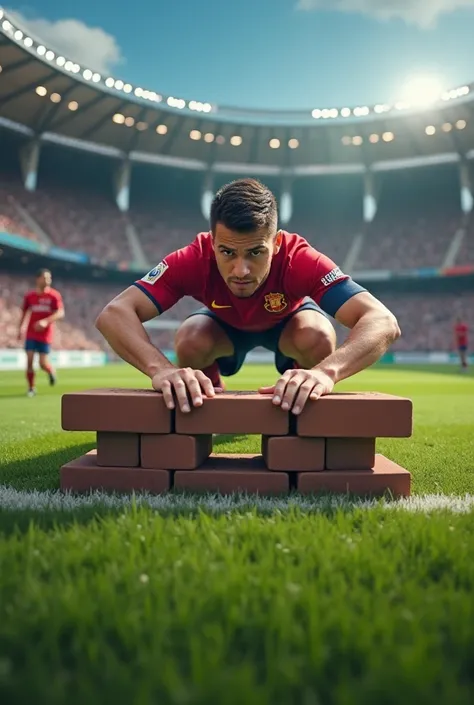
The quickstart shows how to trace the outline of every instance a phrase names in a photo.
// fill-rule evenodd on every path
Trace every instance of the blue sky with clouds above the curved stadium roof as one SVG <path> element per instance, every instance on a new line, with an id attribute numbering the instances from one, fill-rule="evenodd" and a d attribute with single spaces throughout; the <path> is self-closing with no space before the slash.
<path id="1" fill-rule="evenodd" d="M 188 100 L 342 107 L 397 100 L 413 74 L 438 75 L 446 88 L 474 80 L 474 0 L 10 0 L 6 6 L 76 61 Z"/>

